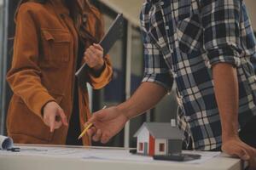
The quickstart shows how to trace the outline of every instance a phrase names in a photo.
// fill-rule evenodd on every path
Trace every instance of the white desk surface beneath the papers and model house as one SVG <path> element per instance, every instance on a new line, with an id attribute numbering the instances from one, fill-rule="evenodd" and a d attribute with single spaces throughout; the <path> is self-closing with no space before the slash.
<path id="1" fill-rule="evenodd" d="M 82 148 L 76 150 L 84 150 Z M 129 156 L 129 153 L 127 153 Z M 241 161 L 229 156 L 217 156 L 202 164 L 167 161 L 104 160 L 91 157 L 18 156 L 0 150 L 0 170 L 241 170 Z"/>

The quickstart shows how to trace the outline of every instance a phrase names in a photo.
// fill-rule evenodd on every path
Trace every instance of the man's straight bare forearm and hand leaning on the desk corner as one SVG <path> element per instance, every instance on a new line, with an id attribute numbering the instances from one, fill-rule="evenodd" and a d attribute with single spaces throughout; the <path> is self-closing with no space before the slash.
<path id="1" fill-rule="evenodd" d="M 250 162 L 256 169 L 256 151 L 238 137 L 238 80 L 233 65 L 219 63 L 213 65 L 214 91 L 222 127 L 222 150 L 231 156 L 238 156 Z"/>

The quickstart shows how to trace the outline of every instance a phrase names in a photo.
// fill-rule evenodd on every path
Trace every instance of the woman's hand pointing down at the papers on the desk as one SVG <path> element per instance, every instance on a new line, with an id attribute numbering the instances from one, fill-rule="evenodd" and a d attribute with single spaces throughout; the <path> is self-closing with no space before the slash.
<path id="1" fill-rule="evenodd" d="M 60 128 L 62 124 L 68 126 L 67 116 L 61 106 L 54 101 L 44 106 L 44 123 L 49 127 L 51 133 Z"/>

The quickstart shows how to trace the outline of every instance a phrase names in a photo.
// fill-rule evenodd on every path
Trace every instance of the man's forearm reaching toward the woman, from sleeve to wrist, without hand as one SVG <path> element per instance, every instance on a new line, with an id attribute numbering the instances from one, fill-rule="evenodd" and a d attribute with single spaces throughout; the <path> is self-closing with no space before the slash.
<path id="1" fill-rule="evenodd" d="M 154 82 L 143 82 L 130 99 L 118 106 L 129 119 L 153 108 L 166 95 L 165 88 Z"/>

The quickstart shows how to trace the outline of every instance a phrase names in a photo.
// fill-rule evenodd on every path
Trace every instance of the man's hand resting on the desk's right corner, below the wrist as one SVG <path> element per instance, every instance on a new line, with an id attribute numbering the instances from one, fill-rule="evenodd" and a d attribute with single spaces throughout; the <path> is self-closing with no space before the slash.
<path id="1" fill-rule="evenodd" d="M 243 143 L 238 137 L 224 139 L 222 150 L 230 156 L 238 156 L 243 161 L 249 161 L 250 169 L 256 169 L 256 149 Z"/>

